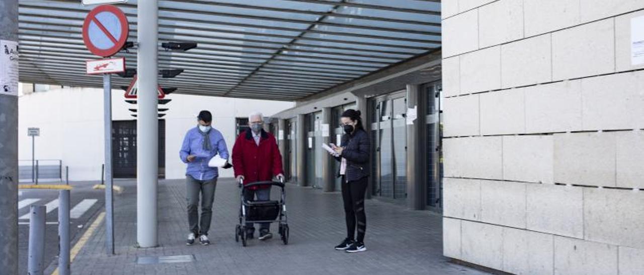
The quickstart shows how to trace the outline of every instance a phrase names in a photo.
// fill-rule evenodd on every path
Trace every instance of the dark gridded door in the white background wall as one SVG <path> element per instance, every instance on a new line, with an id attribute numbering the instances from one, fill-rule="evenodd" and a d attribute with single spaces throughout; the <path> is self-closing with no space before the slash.
<path id="1" fill-rule="evenodd" d="M 166 177 L 166 121 L 158 125 L 159 177 Z M 137 177 L 137 121 L 112 121 L 112 163 L 115 178 Z"/>

